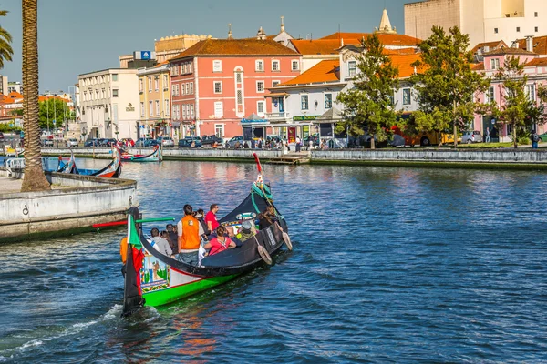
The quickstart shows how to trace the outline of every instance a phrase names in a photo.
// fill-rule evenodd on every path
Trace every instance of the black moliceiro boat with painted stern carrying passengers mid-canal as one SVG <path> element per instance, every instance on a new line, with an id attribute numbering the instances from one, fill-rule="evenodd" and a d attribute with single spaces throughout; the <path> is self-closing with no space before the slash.
<path id="1" fill-rule="evenodd" d="M 224 226 L 237 228 L 244 220 L 255 223 L 255 217 L 268 206 L 274 206 L 270 188 L 263 184 L 262 168 L 251 192 L 243 202 L 219 220 Z M 253 238 L 237 248 L 226 249 L 201 259 L 199 265 L 189 265 L 167 257 L 144 238 L 142 220 L 137 207 L 128 216 L 128 255 L 125 266 L 125 289 L 122 316 L 128 316 L 142 306 L 160 306 L 191 296 L 247 273 L 263 264 L 272 264 L 272 256 L 283 245 L 292 249 L 283 215 L 275 209 L 277 222 L 257 231 Z"/>

